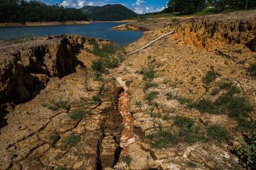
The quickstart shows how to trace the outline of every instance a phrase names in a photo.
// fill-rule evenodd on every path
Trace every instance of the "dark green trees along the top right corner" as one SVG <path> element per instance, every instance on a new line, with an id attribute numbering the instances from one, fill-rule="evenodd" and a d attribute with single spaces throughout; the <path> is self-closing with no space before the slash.
<path id="1" fill-rule="evenodd" d="M 170 0 L 163 12 L 192 14 L 205 8 L 214 8 L 221 12 L 225 9 L 251 9 L 256 7 L 256 0 Z"/>

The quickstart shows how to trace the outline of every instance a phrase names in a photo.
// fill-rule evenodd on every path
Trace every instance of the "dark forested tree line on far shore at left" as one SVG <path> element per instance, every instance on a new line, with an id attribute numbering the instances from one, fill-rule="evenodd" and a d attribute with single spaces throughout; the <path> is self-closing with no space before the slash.
<path id="1" fill-rule="evenodd" d="M 48 6 L 40 1 L 0 0 L 0 23 L 66 22 L 87 20 L 79 9 Z"/>

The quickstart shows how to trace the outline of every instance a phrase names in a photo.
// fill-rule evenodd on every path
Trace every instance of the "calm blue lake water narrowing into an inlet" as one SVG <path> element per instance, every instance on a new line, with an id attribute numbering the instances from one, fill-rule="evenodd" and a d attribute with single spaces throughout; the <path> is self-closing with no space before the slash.
<path id="1" fill-rule="evenodd" d="M 109 30 L 123 23 L 91 23 L 89 25 L 19 26 L 0 28 L 0 39 L 17 39 L 24 36 L 46 36 L 57 34 L 80 34 L 94 38 L 109 39 L 115 45 L 126 46 L 139 39 L 142 31 Z"/>

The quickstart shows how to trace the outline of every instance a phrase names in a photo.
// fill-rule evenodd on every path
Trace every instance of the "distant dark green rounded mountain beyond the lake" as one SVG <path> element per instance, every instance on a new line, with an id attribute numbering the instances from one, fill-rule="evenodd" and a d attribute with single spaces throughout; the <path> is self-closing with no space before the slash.
<path id="1" fill-rule="evenodd" d="M 136 17 L 138 15 L 134 11 L 120 4 L 108 4 L 103 7 L 85 6 L 82 7 L 81 10 L 90 20 L 98 21 L 126 20 L 129 17 Z"/>

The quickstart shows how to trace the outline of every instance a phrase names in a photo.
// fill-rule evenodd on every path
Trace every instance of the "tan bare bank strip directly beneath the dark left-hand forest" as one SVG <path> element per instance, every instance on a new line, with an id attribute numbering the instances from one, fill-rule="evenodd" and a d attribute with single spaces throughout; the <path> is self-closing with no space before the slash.
<path id="1" fill-rule="evenodd" d="M 90 24 L 88 21 L 74 21 L 74 22 L 27 22 L 22 23 L 0 23 L 0 28 L 3 27 L 18 27 L 18 26 L 51 26 L 51 25 L 85 25 Z"/>

